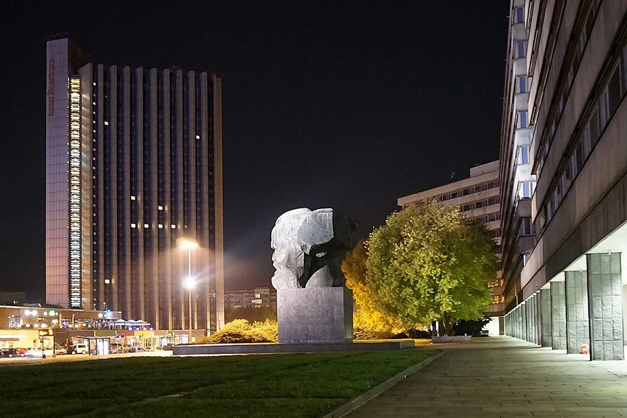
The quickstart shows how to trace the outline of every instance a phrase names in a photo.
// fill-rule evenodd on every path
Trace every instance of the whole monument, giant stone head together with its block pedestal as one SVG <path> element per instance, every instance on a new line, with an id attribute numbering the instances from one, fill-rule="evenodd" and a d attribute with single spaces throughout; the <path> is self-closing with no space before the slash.
<path id="1" fill-rule="evenodd" d="M 353 340 L 353 292 L 340 265 L 357 243 L 358 223 L 333 209 L 300 208 L 272 228 L 278 340 L 337 343 Z"/>

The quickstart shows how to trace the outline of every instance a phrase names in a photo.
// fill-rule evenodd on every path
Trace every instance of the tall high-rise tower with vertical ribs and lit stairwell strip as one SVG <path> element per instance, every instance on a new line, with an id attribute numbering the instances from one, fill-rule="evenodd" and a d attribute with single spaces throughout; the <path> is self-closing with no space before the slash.
<path id="1" fill-rule="evenodd" d="M 97 65 L 61 36 L 46 49 L 47 303 L 219 329 L 221 78 Z"/>

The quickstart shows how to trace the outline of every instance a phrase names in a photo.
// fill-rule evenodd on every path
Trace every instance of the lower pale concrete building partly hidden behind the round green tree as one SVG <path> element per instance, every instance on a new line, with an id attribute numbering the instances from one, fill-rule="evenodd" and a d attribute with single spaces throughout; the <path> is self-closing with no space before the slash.
<path id="1" fill-rule="evenodd" d="M 467 218 L 478 219 L 490 231 L 500 248 L 500 192 L 498 161 L 470 168 L 470 177 L 454 181 L 423 192 L 400 197 L 399 206 L 416 205 L 421 201 L 434 199 L 445 205 L 457 206 Z M 492 291 L 492 306 L 488 316 L 500 318 L 491 325 L 491 333 L 503 333 L 503 272 L 500 267 L 500 252 L 497 254 L 498 271 L 494 282 L 489 284 Z M 500 326 L 498 325 L 500 322 Z"/>

